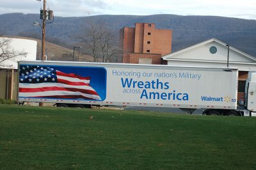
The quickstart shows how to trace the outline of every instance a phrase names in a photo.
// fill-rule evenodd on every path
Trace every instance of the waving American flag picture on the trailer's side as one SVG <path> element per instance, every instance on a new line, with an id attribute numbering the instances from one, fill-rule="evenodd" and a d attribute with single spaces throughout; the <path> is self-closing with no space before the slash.
<path id="1" fill-rule="evenodd" d="M 19 97 L 101 100 L 90 77 L 33 65 L 20 65 Z"/>

